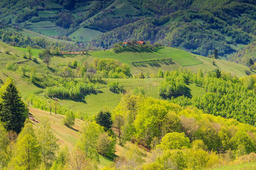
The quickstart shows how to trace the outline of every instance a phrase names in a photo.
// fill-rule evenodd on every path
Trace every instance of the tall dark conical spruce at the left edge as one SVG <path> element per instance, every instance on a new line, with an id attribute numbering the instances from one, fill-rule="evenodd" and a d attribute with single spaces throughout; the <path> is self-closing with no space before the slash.
<path id="1" fill-rule="evenodd" d="M 27 117 L 26 105 L 21 100 L 17 88 L 10 83 L 2 95 L 0 121 L 7 131 L 19 133 Z"/>

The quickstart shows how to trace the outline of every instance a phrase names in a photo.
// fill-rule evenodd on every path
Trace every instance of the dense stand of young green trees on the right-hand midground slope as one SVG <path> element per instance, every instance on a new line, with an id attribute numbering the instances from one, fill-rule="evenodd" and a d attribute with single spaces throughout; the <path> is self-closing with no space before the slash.
<path id="1" fill-rule="evenodd" d="M 188 70 L 176 70 L 164 73 L 165 81 L 160 87 L 160 96 L 171 99 L 182 106 L 193 105 L 204 112 L 235 118 L 236 120 L 255 124 L 255 77 L 236 78 L 229 73 L 216 69 L 197 74 Z M 187 83 L 193 82 L 204 88 L 203 96 L 191 96 Z"/>

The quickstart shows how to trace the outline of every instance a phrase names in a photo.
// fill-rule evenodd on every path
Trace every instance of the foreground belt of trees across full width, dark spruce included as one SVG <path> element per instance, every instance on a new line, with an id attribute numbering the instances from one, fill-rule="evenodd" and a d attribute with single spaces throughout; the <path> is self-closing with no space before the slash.
<path id="1" fill-rule="evenodd" d="M 113 113 L 101 111 L 90 120 L 85 118 L 73 150 L 59 150 L 48 118 L 35 128 L 26 120 L 27 112 L 13 80 L 8 79 L 1 87 L 1 168 L 97 169 L 99 155 L 113 158 L 115 143 L 126 146 L 126 153 L 105 169 L 198 169 L 255 160 L 254 126 L 143 94 L 127 93 Z M 74 114 L 66 111 L 64 125 L 72 126 L 74 120 Z M 142 158 L 142 148 L 130 141 L 151 152 L 148 160 Z"/>

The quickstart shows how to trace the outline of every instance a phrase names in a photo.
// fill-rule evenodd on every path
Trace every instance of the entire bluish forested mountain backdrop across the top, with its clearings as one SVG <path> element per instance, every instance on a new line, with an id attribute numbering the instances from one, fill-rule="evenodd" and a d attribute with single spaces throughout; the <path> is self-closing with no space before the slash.
<path id="1" fill-rule="evenodd" d="M 0 11 L 1 24 L 88 47 L 135 39 L 225 57 L 256 40 L 253 0 L 2 0 Z"/>

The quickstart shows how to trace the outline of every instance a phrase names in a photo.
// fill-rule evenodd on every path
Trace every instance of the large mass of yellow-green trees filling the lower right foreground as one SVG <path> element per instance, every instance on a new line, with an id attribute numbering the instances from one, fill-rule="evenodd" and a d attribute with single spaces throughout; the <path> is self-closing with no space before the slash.
<path id="1" fill-rule="evenodd" d="M 127 155 L 115 168 L 210 168 L 256 150 L 254 126 L 143 95 L 123 96 L 114 109 L 113 126 L 121 145 L 133 141 L 156 154 L 151 162 Z"/>

